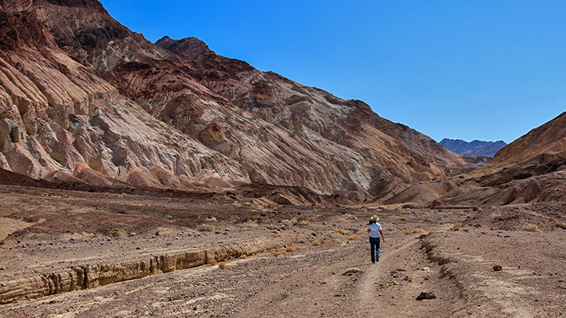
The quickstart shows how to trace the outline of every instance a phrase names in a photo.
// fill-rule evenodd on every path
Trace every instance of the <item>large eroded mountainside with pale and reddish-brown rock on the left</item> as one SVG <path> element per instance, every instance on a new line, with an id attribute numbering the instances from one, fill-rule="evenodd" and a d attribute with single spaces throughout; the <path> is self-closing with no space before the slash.
<path id="1" fill-rule="evenodd" d="M 248 182 L 363 201 L 464 163 L 419 132 L 195 38 L 157 45 L 96 0 L 0 1 L 0 167 L 172 189 Z"/>

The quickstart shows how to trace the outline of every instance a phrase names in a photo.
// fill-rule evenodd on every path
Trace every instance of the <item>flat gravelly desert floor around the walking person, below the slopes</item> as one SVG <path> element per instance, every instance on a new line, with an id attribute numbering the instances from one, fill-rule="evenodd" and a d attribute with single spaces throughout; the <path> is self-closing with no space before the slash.
<path id="1" fill-rule="evenodd" d="M 42 273 L 116 269 L 146 257 L 209 251 L 194 266 L 177 261 L 172 271 L 159 267 L 137 279 L 111 282 L 108 276 L 86 288 L 22 297 L 0 305 L 0 317 L 566 312 L 561 204 L 382 210 L 1 186 L 0 205 L 0 294 L 9 282 Z M 369 260 L 366 234 L 373 214 L 386 236 L 376 264 Z M 262 248 L 210 252 L 250 242 Z M 125 275 L 118 272 L 112 275 Z"/>

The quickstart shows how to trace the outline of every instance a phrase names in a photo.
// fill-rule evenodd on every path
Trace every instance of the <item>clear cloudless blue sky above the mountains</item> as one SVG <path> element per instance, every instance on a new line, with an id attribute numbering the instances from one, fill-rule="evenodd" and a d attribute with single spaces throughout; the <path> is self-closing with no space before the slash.
<path id="1" fill-rule="evenodd" d="M 513 141 L 566 110 L 566 1 L 103 0 L 155 42 L 194 36 L 440 141 Z"/>

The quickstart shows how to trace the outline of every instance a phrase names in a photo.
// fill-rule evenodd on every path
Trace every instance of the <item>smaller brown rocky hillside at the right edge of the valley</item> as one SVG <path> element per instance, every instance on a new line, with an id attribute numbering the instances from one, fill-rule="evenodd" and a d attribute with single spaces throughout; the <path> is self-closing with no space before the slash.
<path id="1" fill-rule="evenodd" d="M 408 184 L 386 203 L 501 206 L 566 201 L 566 112 L 509 143 L 493 160 L 440 181 Z"/>

